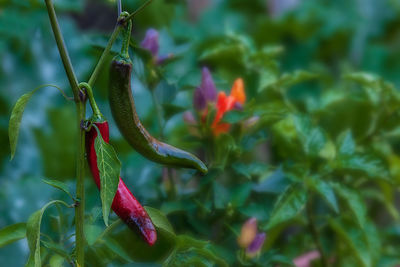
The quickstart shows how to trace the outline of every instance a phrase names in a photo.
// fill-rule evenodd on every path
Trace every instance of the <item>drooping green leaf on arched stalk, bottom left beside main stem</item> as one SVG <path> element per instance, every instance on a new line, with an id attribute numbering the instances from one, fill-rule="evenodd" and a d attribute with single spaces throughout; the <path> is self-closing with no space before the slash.
<path id="1" fill-rule="evenodd" d="M 30 250 L 28 262 L 26 266 L 35 266 L 40 267 L 41 258 L 40 258 L 40 224 L 42 222 L 43 213 L 47 207 L 52 204 L 62 204 L 66 207 L 69 207 L 67 203 L 61 200 L 53 200 L 47 203 L 43 208 L 34 212 L 28 219 L 26 223 L 26 237 L 28 239 L 28 246 Z"/>

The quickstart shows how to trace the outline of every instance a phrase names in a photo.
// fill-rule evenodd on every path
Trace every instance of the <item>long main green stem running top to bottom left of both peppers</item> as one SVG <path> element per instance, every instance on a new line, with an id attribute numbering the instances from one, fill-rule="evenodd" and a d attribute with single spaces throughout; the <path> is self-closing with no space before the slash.
<path id="1" fill-rule="evenodd" d="M 64 65 L 65 72 L 68 77 L 69 84 L 74 94 L 74 100 L 77 109 L 77 125 L 79 131 L 79 142 L 77 151 L 77 182 L 76 182 L 76 198 L 79 200 L 79 204 L 75 207 L 75 236 L 76 236 L 76 263 L 80 267 L 84 267 L 85 263 L 85 236 L 83 232 L 83 223 L 85 216 L 85 187 L 84 187 L 84 175 L 85 175 L 85 131 L 81 128 L 81 122 L 85 119 L 85 103 L 80 97 L 80 89 L 78 86 L 78 80 L 75 76 L 74 69 L 72 67 L 71 60 L 68 55 L 68 51 L 65 47 L 64 39 L 61 35 L 60 26 L 58 25 L 56 12 L 54 10 L 53 2 L 51 0 L 45 0 L 47 12 L 50 18 L 51 28 L 56 39 L 58 51 L 61 56 L 61 60 Z"/>

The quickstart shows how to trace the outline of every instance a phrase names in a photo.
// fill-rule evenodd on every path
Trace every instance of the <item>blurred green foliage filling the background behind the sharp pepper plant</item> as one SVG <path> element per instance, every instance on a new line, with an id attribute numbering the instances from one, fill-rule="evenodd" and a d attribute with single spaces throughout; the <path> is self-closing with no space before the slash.
<path id="1" fill-rule="evenodd" d="M 142 2 L 122 1 L 127 11 Z M 284 8 L 284 2 L 292 6 Z M 111 117 L 104 68 L 95 97 L 110 121 L 122 177 L 143 205 L 153 207 L 148 210 L 159 241 L 147 247 L 115 216 L 106 229 L 100 195 L 87 173 L 88 266 L 290 266 L 315 249 L 332 266 L 399 265 L 399 2 L 206 3 L 202 8 L 196 1 L 154 0 L 134 19 L 131 56 L 143 124 L 154 136 L 196 152 L 209 174 L 167 171 L 129 147 Z M 75 72 L 85 81 L 115 24 L 116 3 L 55 5 Z M 162 66 L 138 47 L 149 27 L 160 32 L 160 54 L 174 55 Z M 52 199 L 70 201 L 42 179 L 62 181 L 73 192 L 77 130 L 73 103 L 54 89 L 41 89 L 26 107 L 9 161 L 8 120 L 17 99 L 41 84 L 71 91 L 43 2 L 0 1 L 0 37 L 3 228 L 26 222 Z M 218 137 L 200 124 L 195 128 L 201 134 L 193 135 L 183 121 L 184 111 L 196 115 L 192 97 L 202 66 L 211 69 L 218 90 L 229 90 L 238 77 L 245 81 L 244 108 L 224 116 L 231 131 Z M 160 78 L 153 91 L 151 71 Z M 255 123 L 246 123 L 251 118 Z M 237 245 L 250 217 L 267 234 L 252 258 Z M 15 225 L 18 231 L 8 239 L 0 232 L 2 265 L 27 261 L 26 239 L 9 244 L 23 238 L 23 227 Z M 67 266 L 73 210 L 52 206 L 41 231 L 42 262 Z M 319 260 L 313 264 L 323 266 Z"/>

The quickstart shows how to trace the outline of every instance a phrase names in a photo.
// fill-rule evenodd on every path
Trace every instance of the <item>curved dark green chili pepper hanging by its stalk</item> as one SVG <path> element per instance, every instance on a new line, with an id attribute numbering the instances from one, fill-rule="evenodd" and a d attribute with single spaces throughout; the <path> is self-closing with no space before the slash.
<path id="1" fill-rule="evenodd" d="M 144 128 L 136 113 L 131 91 L 132 62 L 128 47 L 132 24 L 125 28 L 121 54 L 111 62 L 109 103 L 114 120 L 128 143 L 146 158 L 173 167 L 193 168 L 207 173 L 207 167 L 196 156 L 162 143 Z"/>

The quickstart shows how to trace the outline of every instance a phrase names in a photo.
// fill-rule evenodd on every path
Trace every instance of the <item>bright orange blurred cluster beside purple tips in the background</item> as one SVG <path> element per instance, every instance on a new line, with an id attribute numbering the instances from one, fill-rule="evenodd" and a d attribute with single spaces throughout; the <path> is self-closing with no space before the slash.
<path id="1" fill-rule="evenodd" d="M 231 93 L 229 96 L 225 92 L 219 92 L 217 98 L 217 114 L 215 115 L 214 121 L 211 125 L 213 133 L 218 136 L 221 133 L 226 133 L 230 129 L 230 124 L 226 122 L 220 122 L 224 114 L 235 107 L 238 103 L 243 105 L 246 101 L 246 93 L 244 91 L 244 83 L 242 78 L 238 78 L 233 83 Z"/>

